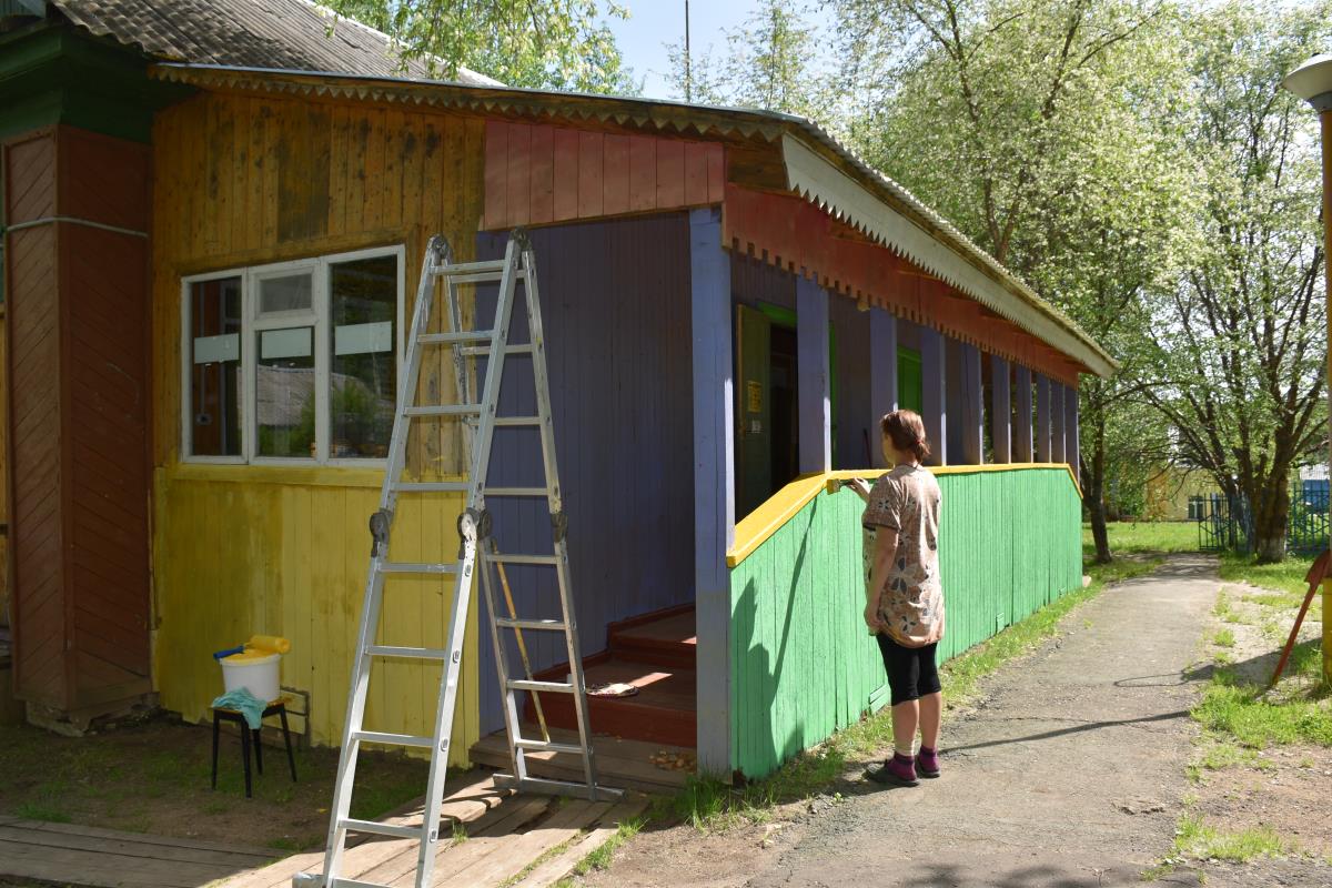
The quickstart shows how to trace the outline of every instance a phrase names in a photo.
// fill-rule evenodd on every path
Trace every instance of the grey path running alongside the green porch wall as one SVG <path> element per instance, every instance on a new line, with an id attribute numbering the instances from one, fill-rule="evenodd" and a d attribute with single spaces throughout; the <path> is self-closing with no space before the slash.
<path id="1" fill-rule="evenodd" d="M 1209 559 L 1176 556 L 1072 612 L 1066 635 L 992 676 L 984 703 L 946 726 L 939 780 L 876 792 L 858 781 L 859 795 L 775 832 L 646 833 L 589 884 L 1143 884 L 1188 792 L 1188 710 L 1205 679 L 1192 664 L 1219 586 Z M 1207 876 L 1325 884 L 1327 868 L 1316 881 L 1287 868 L 1273 861 L 1259 881 L 1243 868 Z M 1197 883 L 1177 871 L 1158 884 Z"/>

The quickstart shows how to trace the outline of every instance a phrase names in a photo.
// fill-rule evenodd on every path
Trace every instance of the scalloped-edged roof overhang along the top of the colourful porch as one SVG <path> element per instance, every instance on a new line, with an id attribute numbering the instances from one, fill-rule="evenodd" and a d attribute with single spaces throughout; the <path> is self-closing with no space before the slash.
<path id="1" fill-rule="evenodd" d="M 713 138 L 759 137 L 770 142 L 781 142 L 783 134 L 791 134 L 822 150 L 830 161 L 838 162 L 844 173 L 870 192 L 875 200 L 882 201 L 894 212 L 912 221 L 930 237 L 955 252 L 962 261 L 979 269 L 982 274 L 1010 293 L 1011 298 L 1023 304 L 1027 310 L 1043 317 L 1046 325 L 1055 325 L 1066 335 L 1058 337 L 1063 342 L 1056 345 L 1051 342 L 1051 337 L 1042 335 L 1036 329 L 1032 329 L 1032 325 L 1010 317 L 1019 326 L 1034 333 L 1044 342 L 1055 345 L 1060 351 L 1079 361 L 1098 375 L 1108 375 L 1119 366 L 1067 314 L 1018 280 L 998 260 L 959 232 L 952 222 L 928 208 L 910 190 L 870 166 L 851 149 L 832 138 L 822 126 L 805 117 L 751 108 L 689 105 L 675 101 L 622 96 L 545 92 L 514 87 L 469 87 L 401 77 L 345 77 L 334 72 L 161 65 L 156 73 L 164 80 L 204 87 L 213 85 L 314 96 L 326 95 L 369 101 L 397 101 L 413 105 L 456 108 L 482 114 L 506 114 L 551 121 L 566 120 L 575 125 L 579 121 L 599 121 Z M 818 196 L 814 194 L 805 194 L 805 197 L 818 201 Z M 860 220 L 847 213 L 847 208 L 826 205 L 825 209 L 842 221 L 874 236 L 874 232 L 866 230 Z M 979 301 L 986 301 L 982 294 L 972 293 L 967 288 L 962 288 L 962 292 L 971 298 L 979 297 Z"/>

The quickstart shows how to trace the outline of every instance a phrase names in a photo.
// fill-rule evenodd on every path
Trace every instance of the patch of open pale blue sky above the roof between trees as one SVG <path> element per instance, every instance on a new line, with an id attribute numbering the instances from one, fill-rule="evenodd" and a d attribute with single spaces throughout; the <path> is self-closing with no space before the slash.
<path id="1" fill-rule="evenodd" d="M 685 0 L 621 0 L 629 8 L 627 21 L 611 20 L 625 64 L 634 69 L 634 80 L 643 80 L 643 95 L 667 99 L 666 44 L 685 37 Z M 711 44 L 721 51 L 723 33 L 745 21 L 758 5 L 757 0 L 690 0 L 690 43 L 695 52 Z"/>

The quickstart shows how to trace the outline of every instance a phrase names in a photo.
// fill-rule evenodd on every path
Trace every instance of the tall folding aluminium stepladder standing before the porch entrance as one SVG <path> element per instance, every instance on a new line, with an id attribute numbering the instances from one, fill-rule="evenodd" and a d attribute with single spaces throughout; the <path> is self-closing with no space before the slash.
<path id="1" fill-rule="evenodd" d="M 527 329 L 530 341 L 509 343 L 509 328 L 513 320 L 517 286 L 522 281 L 523 301 L 527 309 Z M 449 326 L 442 333 L 429 333 L 432 304 L 436 284 L 444 284 Z M 494 325 L 486 330 L 468 330 L 464 324 L 460 286 L 500 284 L 496 302 Z M 420 405 L 417 383 L 421 375 L 421 355 L 424 349 L 450 346 L 453 349 L 454 377 L 457 382 L 457 403 Z M 530 354 L 535 377 L 537 415 L 498 415 L 501 382 L 503 379 L 505 358 L 513 354 Z M 485 359 L 485 370 L 476 363 Z M 480 399 L 473 391 L 480 382 Z M 464 481 L 409 482 L 402 479 L 406 463 L 406 443 L 409 427 L 417 418 L 454 418 L 464 423 L 465 462 L 469 474 Z M 486 485 L 490 467 L 490 449 L 496 427 L 527 426 L 538 427 L 541 433 L 542 465 L 545 487 L 494 487 Z M 569 582 L 569 555 L 565 530 L 563 505 L 559 493 L 559 475 L 555 465 L 554 426 L 550 411 L 550 387 L 546 373 L 545 338 L 541 326 L 541 304 L 537 292 L 534 253 L 526 234 L 519 229 L 509 238 L 503 260 L 488 262 L 453 261 L 448 242 L 436 236 L 426 248 L 421 269 L 421 284 L 417 292 L 416 308 L 412 316 L 412 329 L 408 338 L 408 353 L 402 386 L 398 389 L 397 414 L 393 422 L 393 435 L 389 445 L 388 467 L 384 487 L 380 494 L 380 509 L 370 517 L 370 568 L 365 586 L 365 600 L 361 608 L 361 627 L 357 635 L 356 659 L 352 666 L 352 686 L 348 694 L 346 724 L 342 731 L 342 748 L 338 759 L 337 784 L 329 815 L 328 844 L 324 855 L 322 875 L 300 873 L 292 881 L 296 888 L 382 888 L 376 883 L 357 881 L 341 876 L 348 832 L 372 833 L 396 839 L 416 839 L 418 843 L 416 887 L 429 888 L 434 869 L 434 856 L 440 840 L 440 808 L 444 796 L 444 783 L 448 772 L 449 750 L 453 739 L 453 714 L 458 692 L 458 674 L 462 664 L 462 642 L 466 634 L 468 607 L 472 591 L 472 578 L 481 568 L 481 587 L 489 603 L 489 623 L 492 642 L 496 648 L 496 663 L 500 672 L 500 687 L 505 696 L 505 727 L 509 738 L 509 754 L 513 774 L 496 775 L 496 785 L 517 791 L 575 795 L 590 800 L 611 800 L 621 791 L 597 784 L 597 768 L 593 758 L 591 736 L 587 722 L 587 699 L 585 694 L 578 630 L 574 619 Z M 461 546 L 457 560 L 432 563 L 405 563 L 389 560 L 389 535 L 393 525 L 393 511 L 400 494 L 465 493 L 466 506 L 458 517 Z M 554 551 L 549 555 L 500 554 L 490 542 L 492 518 L 486 511 L 486 497 L 526 497 L 545 498 L 550 507 Z M 441 549 L 445 541 L 441 539 Z M 496 564 L 537 564 L 555 571 L 559 592 L 561 619 L 519 619 L 515 615 L 498 616 L 492 568 Z M 389 575 L 454 575 L 453 610 L 445 648 L 402 647 L 376 644 L 380 611 L 384 600 L 385 579 Z M 514 679 L 509 675 L 502 630 L 554 631 L 565 635 L 570 663 L 570 680 L 537 682 L 530 675 Z M 440 696 L 434 719 L 433 736 L 412 736 L 365 731 L 365 703 L 370 683 L 370 666 L 378 658 L 401 658 L 409 660 L 437 660 L 444 663 L 440 676 Z M 578 720 L 578 744 L 553 743 L 549 739 L 523 738 L 518 719 L 515 694 L 527 691 L 571 694 Z M 420 747 L 430 750 L 430 775 L 428 777 L 422 820 L 420 825 L 385 824 L 357 820 L 349 816 L 352 792 L 354 788 L 357 755 L 361 743 L 380 743 L 400 747 Z M 527 775 L 525 755 L 533 751 L 553 751 L 575 754 L 582 758 L 583 783 L 545 780 Z"/>

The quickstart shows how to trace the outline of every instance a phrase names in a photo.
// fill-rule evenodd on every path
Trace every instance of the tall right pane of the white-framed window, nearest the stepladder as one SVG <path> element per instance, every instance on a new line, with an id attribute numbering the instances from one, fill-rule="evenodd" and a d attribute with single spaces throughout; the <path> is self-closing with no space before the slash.
<path id="1" fill-rule="evenodd" d="M 397 257 L 330 265 L 329 301 L 329 455 L 384 458 L 397 397 Z"/>

